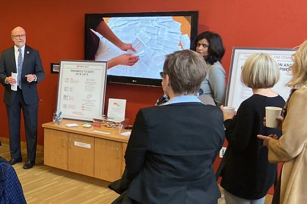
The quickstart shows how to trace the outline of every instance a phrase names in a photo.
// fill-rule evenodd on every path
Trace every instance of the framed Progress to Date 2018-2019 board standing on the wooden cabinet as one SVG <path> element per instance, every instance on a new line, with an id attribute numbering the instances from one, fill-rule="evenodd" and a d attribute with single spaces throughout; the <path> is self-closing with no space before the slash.
<path id="1" fill-rule="evenodd" d="M 61 60 L 56 111 L 84 121 L 103 115 L 106 77 L 106 61 Z"/>

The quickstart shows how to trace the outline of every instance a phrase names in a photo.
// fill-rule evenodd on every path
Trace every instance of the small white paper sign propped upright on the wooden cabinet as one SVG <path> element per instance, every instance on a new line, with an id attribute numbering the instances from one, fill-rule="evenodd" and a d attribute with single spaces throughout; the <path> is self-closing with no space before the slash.
<path id="1" fill-rule="evenodd" d="M 108 117 L 125 118 L 126 99 L 109 99 Z"/>

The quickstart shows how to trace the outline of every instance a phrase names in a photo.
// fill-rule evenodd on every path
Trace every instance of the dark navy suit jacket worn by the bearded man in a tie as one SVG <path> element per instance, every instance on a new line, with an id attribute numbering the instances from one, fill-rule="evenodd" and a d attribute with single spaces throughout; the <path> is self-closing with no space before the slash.
<path id="1" fill-rule="evenodd" d="M 5 87 L 4 102 L 6 105 L 11 105 L 16 91 L 11 90 L 11 85 L 5 83 L 7 77 L 17 73 L 14 46 L 3 51 L 0 60 L 0 83 Z M 35 74 L 36 82 L 27 82 L 25 75 Z M 38 50 L 25 45 L 25 53 L 22 67 L 22 92 L 25 103 L 27 105 L 34 105 L 38 103 L 37 84 L 45 78 L 42 61 Z"/>

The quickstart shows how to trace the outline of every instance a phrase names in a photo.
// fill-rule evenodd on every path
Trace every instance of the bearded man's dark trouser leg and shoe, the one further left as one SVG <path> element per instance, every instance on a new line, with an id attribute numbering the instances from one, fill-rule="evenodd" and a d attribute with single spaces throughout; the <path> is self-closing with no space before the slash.
<path id="1" fill-rule="evenodd" d="M 9 161 L 9 163 L 11 165 L 22 162 L 22 155 L 20 148 L 20 116 L 21 116 L 21 104 L 19 101 L 20 95 L 21 95 L 21 90 L 18 90 L 11 106 L 6 105 L 8 119 L 9 119 L 10 153 L 12 158 Z"/>

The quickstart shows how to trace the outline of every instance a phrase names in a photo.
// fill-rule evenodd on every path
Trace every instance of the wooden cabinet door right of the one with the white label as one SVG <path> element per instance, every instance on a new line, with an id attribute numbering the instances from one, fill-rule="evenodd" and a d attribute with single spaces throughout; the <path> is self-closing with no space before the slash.
<path id="1" fill-rule="evenodd" d="M 111 182 L 121 178 L 122 144 L 121 142 L 95 138 L 95 178 Z"/>

